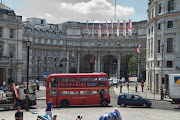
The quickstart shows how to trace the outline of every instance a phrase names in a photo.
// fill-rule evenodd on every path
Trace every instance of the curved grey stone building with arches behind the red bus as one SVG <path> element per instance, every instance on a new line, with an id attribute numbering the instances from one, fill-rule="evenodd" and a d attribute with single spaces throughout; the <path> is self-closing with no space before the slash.
<path id="1" fill-rule="evenodd" d="M 44 72 L 48 75 L 56 72 L 106 72 L 109 77 L 127 78 L 128 61 L 132 56 L 139 59 L 139 76 L 145 71 L 146 21 L 133 23 L 132 37 L 123 37 L 122 31 L 120 36 L 117 36 L 115 23 L 115 29 L 109 32 L 109 37 L 106 35 L 106 24 L 101 23 L 102 36 L 98 37 L 99 23 L 94 23 L 93 35 L 92 24 L 88 24 L 89 34 L 87 23 L 68 21 L 62 24 L 48 24 L 38 18 L 29 18 L 24 22 L 23 40 L 29 39 L 32 42 L 31 79 L 43 79 Z M 110 25 L 108 23 L 109 28 Z M 122 24 L 120 26 L 122 30 Z M 142 46 L 139 58 L 136 52 L 137 43 Z M 23 53 L 26 54 L 25 44 Z M 23 60 L 24 77 L 25 60 L 26 58 Z"/>

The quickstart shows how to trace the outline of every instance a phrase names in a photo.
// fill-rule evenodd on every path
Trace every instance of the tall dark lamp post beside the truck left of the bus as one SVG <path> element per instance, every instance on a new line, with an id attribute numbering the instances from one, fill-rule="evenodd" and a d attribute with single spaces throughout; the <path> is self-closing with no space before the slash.
<path id="1" fill-rule="evenodd" d="M 31 41 L 27 40 L 27 89 L 26 89 L 26 111 L 29 111 L 29 92 L 28 92 L 28 84 L 29 84 L 29 48 L 31 45 Z"/>

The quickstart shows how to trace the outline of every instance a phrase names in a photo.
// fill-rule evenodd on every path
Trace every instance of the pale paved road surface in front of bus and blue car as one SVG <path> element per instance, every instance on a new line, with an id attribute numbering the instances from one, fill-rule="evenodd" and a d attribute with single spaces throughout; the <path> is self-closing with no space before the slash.
<path id="1" fill-rule="evenodd" d="M 37 94 L 45 94 L 45 91 L 39 91 Z M 58 116 L 58 120 L 75 120 L 77 115 L 83 116 L 82 120 L 98 120 L 102 114 L 112 112 L 114 108 L 118 108 L 123 120 L 179 120 L 180 118 L 180 109 L 177 109 L 177 105 L 171 104 L 168 101 L 152 100 L 152 108 L 133 106 L 122 108 L 117 105 L 118 95 L 114 93 L 114 87 L 110 89 L 110 94 L 111 104 L 108 107 L 74 106 L 60 109 L 55 108 L 53 114 Z M 0 110 L 0 120 L 14 120 L 15 111 Z M 24 120 L 36 120 L 37 115 L 45 114 L 44 111 L 45 100 L 38 100 L 36 108 L 31 108 L 30 112 L 24 111 Z"/>

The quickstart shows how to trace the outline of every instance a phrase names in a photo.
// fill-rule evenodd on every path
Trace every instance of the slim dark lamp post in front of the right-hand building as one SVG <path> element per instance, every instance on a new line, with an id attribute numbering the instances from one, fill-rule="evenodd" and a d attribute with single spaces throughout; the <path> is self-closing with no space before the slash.
<path id="1" fill-rule="evenodd" d="M 163 50 L 164 50 L 164 44 L 162 43 L 162 45 L 161 45 L 161 52 L 162 52 L 162 62 L 161 62 L 161 100 L 163 100 L 163 84 L 164 84 L 164 77 L 163 77 Z"/>

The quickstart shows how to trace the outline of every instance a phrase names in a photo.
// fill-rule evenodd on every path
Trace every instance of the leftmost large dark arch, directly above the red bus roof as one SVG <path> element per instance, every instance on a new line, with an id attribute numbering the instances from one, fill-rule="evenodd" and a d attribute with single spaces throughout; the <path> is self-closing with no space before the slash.
<path id="1" fill-rule="evenodd" d="M 80 72 L 93 73 L 96 72 L 96 59 L 93 55 L 85 55 L 81 58 Z"/>

